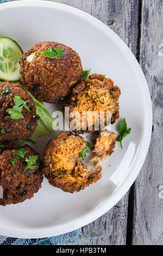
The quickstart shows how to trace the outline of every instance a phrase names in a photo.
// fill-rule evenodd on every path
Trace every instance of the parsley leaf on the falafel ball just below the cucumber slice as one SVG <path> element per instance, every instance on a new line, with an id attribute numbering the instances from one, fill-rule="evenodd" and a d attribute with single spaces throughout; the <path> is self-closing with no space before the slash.
<path id="1" fill-rule="evenodd" d="M 31 112 L 28 105 L 27 105 L 27 102 L 29 100 L 24 101 L 18 95 L 15 96 L 13 100 L 14 100 L 14 106 L 12 108 L 9 108 L 10 117 L 7 117 L 7 118 L 11 118 L 11 119 L 24 118 L 23 115 L 22 115 L 23 107 L 26 108 L 28 112 Z"/>

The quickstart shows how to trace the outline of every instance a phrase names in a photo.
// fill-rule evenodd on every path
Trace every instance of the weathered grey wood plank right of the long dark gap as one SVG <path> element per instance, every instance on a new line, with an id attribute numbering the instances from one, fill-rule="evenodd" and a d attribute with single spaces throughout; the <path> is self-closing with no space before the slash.
<path id="1" fill-rule="evenodd" d="M 159 198 L 162 177 L 162 84 L 163 84 L 163 1 L 143 0 L 140 65 L 152 95 L 151 146 L 135 182 L 134 245 L 163 244 L 163 199 Z"/>

